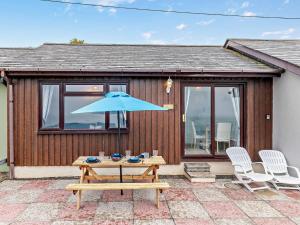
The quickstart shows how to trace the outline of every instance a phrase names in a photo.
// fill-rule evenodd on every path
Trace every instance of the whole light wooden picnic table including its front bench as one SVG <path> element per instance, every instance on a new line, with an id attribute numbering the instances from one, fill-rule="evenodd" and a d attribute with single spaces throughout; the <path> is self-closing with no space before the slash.
<path id="1" fill-rule="evenodd" d="M 137 190 L 137 189 L 155 189 L 156 190 L 156 206 L 159 207 L 159 195 L 163 189 L 169 188 L 168 183 L 159 181 L 157 170 L 160 165 L 165 165 L 166 162 L 161 156 L 155 156 L 147 159 L 142 159 L 138 163 L 129 163 L 123 158 L 120 161 L 112 161 L 104 159 L 98 163 L 87 163 L 87 157 L 81 156 L 72 164 L 78 166 L 81 170 L 79 184 L 69 184 L 66 189 L 77 194 L 77 209 L 80 208 L 82 191 L 95 190 Z M 140 175 L 123 175 L 122 168 L 146 168 Z M 119 168 L 120 175 L 100 175 L 95 171 L 95 168 Z M 106 181 L 119 179 L 120 183 L 89 183 L 90 181 Z M 123 180 L 141 180 L 151 179 L 148 183 L 123 183 Z M 87 182 L 87 183 L 85 183 Z"/>

